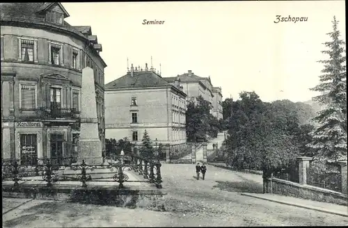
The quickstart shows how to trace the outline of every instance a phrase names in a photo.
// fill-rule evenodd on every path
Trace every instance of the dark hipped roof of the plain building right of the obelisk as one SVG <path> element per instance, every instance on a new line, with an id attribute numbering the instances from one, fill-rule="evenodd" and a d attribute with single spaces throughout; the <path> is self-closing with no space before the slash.
<path id="1" fill-rule="evenodd" d="M 128 72 L 126 75 L 113 80 L 105 85 L 105 90 L 122 89 L 122 88 L 148 88 L 172 86 L 162 79 L 161 76 L 152 71 L 134 72 L 133 76 Z"/>

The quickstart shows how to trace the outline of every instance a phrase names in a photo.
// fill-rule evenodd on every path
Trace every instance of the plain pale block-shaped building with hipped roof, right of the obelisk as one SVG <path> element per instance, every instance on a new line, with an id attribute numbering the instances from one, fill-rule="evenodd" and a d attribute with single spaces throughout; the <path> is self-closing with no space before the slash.
<path id="1" fill-rule="evenodd" d="M 146 130 L 152 142 L 184 149 L 187 95 L 179 81 L 172 85 L 147 65 L 139 68 L 105 85 L 106 138 L 140 145 Z"/>

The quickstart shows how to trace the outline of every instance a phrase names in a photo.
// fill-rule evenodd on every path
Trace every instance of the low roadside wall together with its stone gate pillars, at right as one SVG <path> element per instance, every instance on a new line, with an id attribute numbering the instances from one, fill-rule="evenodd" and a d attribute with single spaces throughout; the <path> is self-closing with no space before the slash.
<path id="1" fill-rule="evenodd" d="M 340 180 L 336 180 L 340 186 L 335 190 L 330 190 L 326 188 L 319 188 L 318 186 L 313 186 L 313 181 L 309 181 L 309 175 L 311 174 L 310 157 L 299 157 L 298 161 L 298 181 L 295 183 L 293 181 L 288 181 L 280 178 L 275 178 L 273 174 L 271 177 L 264 176 L 264 193 L 288 195 L 292 197 L 301 197 L 303 199 L 312 199 L 320 202 L 330 202 L 334 204 L 347 205 L 347 161 L 342 161 L 340 165 L 340 174 L 337 177 Z M 325 181 L 322 181 L 325 182 Z"/>

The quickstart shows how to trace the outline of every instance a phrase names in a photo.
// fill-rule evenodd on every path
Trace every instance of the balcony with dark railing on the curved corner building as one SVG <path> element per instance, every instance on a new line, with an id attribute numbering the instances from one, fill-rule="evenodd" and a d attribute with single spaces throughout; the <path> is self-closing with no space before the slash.
<path id="1" fill-rule="evenodd" d="M 37 113 L 42 120 L 75 122 L 78 120 L 79 112 L 74 108 L 40 107 Z"/>

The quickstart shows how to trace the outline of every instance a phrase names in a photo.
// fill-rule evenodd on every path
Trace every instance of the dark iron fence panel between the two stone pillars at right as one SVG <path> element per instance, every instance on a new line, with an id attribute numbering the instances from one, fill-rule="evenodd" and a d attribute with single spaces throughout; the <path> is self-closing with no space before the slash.
<path id="1" fill-rule="evenodd" d="M 342 192 L 342 174 L 340 171 L 340 166 L 334 163 L 326 163 L 322 170 L 314 168 L 311 164 L 306 170 L 306 182 L 310 186 Z"/>

